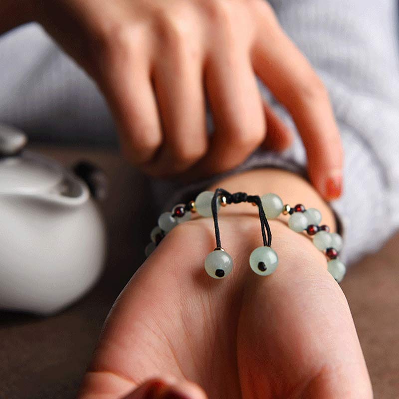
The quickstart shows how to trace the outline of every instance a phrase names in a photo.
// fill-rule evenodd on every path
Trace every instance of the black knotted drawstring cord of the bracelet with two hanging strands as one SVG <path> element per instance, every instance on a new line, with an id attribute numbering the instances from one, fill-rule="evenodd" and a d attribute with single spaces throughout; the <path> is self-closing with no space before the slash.
<path id="1" fill-rule="evenodd" d="M 212 208 L 212 216 L 213 223 L 215 225 L 215 237 L 216 237 L 216 248 L 221 248 L 220 243 L 220 231 L 219 231 L 219 221 L 217 219 L 217 198 L 225 197 L 226 203 L 240 203 L 240 202 L 253 202 L 257 205 L 259 209 L 259 219 L 260 219 L 260 227 L 262 230 L 262 239 L 264 246 L 271 246 L 271 231 L 269 222 L 267 221 L 265 212 L 263 210 L 262 201 L 259 196 L 248 196 L 246 193 L 234 193 L 230 194 L 228 191 L 223 189 L 216 189 L 212 198 L 211 208 Z M 266 238 L 266 232 L 267 238 Z"/>

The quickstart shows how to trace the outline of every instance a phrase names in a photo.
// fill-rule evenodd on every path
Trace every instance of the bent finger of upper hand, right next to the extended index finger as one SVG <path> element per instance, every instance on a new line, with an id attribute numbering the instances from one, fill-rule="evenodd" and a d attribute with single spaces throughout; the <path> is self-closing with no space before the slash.
<path id="1" fill-rule="evenodd" d="M 261 99 L 248 60 L 243 56 L 231 68 L 223 65 L 225 61 L 226 57 L 214 60 L 206 71 L 215 131 L 202 163 L 205 172 L 219 173 L 240 165 L 266 133 Z"/>

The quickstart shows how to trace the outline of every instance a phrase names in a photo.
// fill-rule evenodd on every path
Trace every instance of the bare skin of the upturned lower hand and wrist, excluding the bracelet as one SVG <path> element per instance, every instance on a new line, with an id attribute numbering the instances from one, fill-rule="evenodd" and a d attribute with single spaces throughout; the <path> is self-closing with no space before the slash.
<path id="1" fill-rule="evenodd" d="M 335 229 L 328 205 L 290 173 L 252 171 L 217 186 L 281 193 L 319 208 Z M 261 277 L 248 264 L 262 244 L 256 208 L 222 208 L 222 245 L 234 261 L 223 280 L 203 269 L 212 219 L 175 227 L 116 301 L 79 399 L 144 399 L 154 378 L 188 399 L 372 398 L 345 296 L 324 255 L 284 220 L 270 221 L 279 266 Z"/>

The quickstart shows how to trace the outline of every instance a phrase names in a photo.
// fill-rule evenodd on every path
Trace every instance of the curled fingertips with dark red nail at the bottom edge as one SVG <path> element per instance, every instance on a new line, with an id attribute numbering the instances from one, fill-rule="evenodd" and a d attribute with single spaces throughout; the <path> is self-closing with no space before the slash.
<path id="1" fill-rule="evenodd" d="M 206 399 L 205 393 L 189 381 L 167 383 L 164 380 L 148 380 L 123 399 Z"/>

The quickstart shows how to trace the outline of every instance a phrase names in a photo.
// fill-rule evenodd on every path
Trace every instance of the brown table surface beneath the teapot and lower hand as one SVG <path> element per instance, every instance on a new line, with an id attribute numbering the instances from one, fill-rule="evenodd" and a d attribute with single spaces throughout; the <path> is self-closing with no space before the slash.
<path id="1" fill-rule="evenodd" d="M 109 253 L 95 288 L 62 313 L 38 318 L 0 312 L 0 399 L 75 397 L 112 303 L 144 260 L 143 237 L 148 237 L 151 229 L 146 215 L 155 214 L 144 200 L 149 194 L 148 182 L 116 153 L 49 147 L 35 150 L 65 165 L 86 159 L 107 171 L 110 194 L 101 206 Z M 398 248 L 399 235 L 379 253 L 352 266 L 342 283 L 377 399 L 399 398 Z"/>

